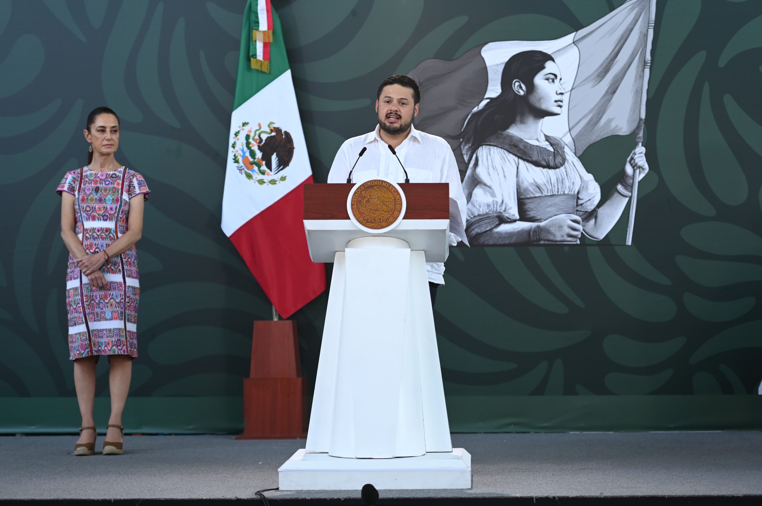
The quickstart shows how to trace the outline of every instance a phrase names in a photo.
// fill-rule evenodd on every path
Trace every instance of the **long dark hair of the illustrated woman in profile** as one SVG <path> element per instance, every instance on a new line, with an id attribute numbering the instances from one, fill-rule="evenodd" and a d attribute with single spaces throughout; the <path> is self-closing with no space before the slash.
<path id="1" fill-rule="evenodd" d="M 516 121 L 520 96 L 514 91 L 514 80 L 521 81 L 527 88 L 527 93 L 530 93 L 534 88 L 535 76 L 545 68 L 547 62 L 555 62 L 555 59 L 543 51 L 522 51 L 505 62 L 500 78 L 500 94 L 489 99 L 482 109 L 473 113 L 463 129 L 461 146 L 464 154 L 468 153 L 469 162 L 490 135 L 507 129 Z"/>

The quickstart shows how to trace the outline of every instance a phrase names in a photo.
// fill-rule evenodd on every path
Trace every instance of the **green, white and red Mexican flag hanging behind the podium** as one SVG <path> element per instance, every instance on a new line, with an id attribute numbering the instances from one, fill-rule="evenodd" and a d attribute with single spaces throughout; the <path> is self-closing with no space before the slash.
<path id="1" fill-rule="evenodd" d="M 309 258 L 302 221 L 312 168 L 270 0 L 248 0 L 243 19 L 222 228 L 287 318 L 325 290 L 325 266 Z"/>

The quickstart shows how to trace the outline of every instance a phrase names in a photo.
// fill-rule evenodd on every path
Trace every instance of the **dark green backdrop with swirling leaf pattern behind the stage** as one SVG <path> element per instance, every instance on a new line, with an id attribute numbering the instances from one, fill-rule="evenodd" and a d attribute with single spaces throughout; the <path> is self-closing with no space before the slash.
<path id="1" fill-rule="evenodd" d="M 621 0 L 277 1 L 315 180 L 383 78 L 547 40 Z M 0 431 L 78 426 L 59 198 L 89 110 L 152 189 L 125 422 L 235 432 L 271 307 L 219 228 L 245 0 L 0 0 Z M 456 248 L 437 323 L 453 431 L 762 428 L 762 3 L 658 0 L 635 246 Z M 425 97 L 422 107 L 425 107 Z M 581 158 L 613 189 L 632 136 Z M 621 236 L 621 237 L 620 237 Z M 328 266 L 328 274 L 331 268 Z M 294 315 L 315 377 L 327 294 Z M 97 422 L 107 417 L 98 368 Z"/>

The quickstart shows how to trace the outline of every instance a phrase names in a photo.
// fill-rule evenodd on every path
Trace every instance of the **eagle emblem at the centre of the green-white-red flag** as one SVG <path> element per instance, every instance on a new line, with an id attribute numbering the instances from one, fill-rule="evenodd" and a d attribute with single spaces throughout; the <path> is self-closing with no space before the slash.
<path id="1" fill-rule="evenodd" d="M 245 121 L 233 132 L 230 148 L 235 168 L 246 179 L 261 186 L 283 183 L 286 176 L 277 176 L 277 173 L 288 167 L 293 159 L 291 134 L 275 126 L 274 121 L 267 123 L 266 128 L 257 123 L 256 130 L 253 127 L 246 129 L 250 124 Z"/>

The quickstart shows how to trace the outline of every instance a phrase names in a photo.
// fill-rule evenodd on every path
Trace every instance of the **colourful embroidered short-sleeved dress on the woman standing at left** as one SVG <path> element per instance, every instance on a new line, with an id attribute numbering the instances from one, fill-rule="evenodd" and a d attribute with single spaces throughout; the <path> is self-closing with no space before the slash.
<path id="1" fill-rule="evenodd" d="M 127 231 L 130 199 L 150 192 L 142 175 L 121 167 L 93 172 L 88 167 L 66 173 L 56 193 L 75 197 L 75 233 L 88 253 L 105 250 Z M 138 356 L 136 325 L 140 284 L 135 247 L 108 259 L 101 267 L 107 288 L 91 287 L 69 253 L 66 308 L 69 313 L 69 358 L 90 355 Z"/>

